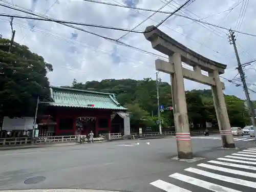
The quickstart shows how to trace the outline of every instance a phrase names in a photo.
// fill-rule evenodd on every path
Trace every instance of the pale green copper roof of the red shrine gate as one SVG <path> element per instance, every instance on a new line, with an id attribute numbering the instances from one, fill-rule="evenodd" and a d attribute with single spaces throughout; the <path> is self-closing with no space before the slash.
<path id="1" fill-rule="evenodd" d="M 52 106 L 67 106 L 72 108 L 91 108 L 126 110 L 111 93 L 100 93 L 70 88 L 51 87 Z M 94 106 L 88 106 L 94 104 Z"/>

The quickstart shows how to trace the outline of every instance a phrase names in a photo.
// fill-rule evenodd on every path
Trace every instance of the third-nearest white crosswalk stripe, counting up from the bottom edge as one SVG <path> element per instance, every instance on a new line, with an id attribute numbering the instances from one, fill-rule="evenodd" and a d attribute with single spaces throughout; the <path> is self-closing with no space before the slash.
<path id="1" fill-rule="evenodd" d="M 205 170 L 200 170 L 200 169 L 192 168 L 192 167 L 186 168 L 185 170 L 187 172 L 199 174 L 199 175 L 202 175 L 205 177 L 210 177 L 210 178 L 218 179 L 221 181 L 226 181 L 229 183 L 234 183 L 234 184 L 244 185 L 247 187 L 256 188 L 256 183 L 252 182 L 252 181 L 246 181 L 243 179 L 237 179 L 237 178 L 227 177 L 227 176 L 223 176 L 223 175 L 219 175 L 219 174 L 214 174 L 214 173 L 206 172 Z"/>

